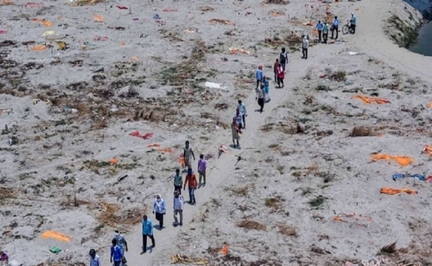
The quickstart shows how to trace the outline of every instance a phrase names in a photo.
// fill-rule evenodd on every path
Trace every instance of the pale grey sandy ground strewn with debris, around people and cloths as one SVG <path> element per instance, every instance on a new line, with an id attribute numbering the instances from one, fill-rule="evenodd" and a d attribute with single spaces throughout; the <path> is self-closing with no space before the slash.
<path id="1" fill-rule="evenodd" d="M 174 254 L 209 265 L 431 263 L 431 183 L 392 180 L 431 174 L 422 150 L 432 145 L 432 60 L 385 33 L 390 15 L 419 13 L 399 0 L 329 4 L 341 24 L 354 11 L 359 27 L 325 45 L 304 24 L 325 18 L 327 4 L 290 2 L 5 1 L 0 108 L 12 110 L 0 114 L 0 249 L 44 266 L 88 265 L 95 248 L 110 265 L 118 229 L 129 266 L 170 265 Z M 54 33 L 41 36 L 46 31 Z M 308 60 L 296 42 L 302 34 L 310 36 Z M 254 70 L 263 65 L 273 79 L 281 46 L 290 48 L 286 86 L 270 82 L 271 101 L 255 112 Z M 355 95 L 390 102 L 365 104 Z M 229 122 L 238 99 L 249 115 L 242 148 L 233 149 Z M 368 136 L 351 137 L 355 126 L 368 127 Z M 143 140 L 133 131 L 153 134 Z M 10 146 L 11 136 L 17 143 Z M 211 157 L 208 181 L 197 205 L 185 205 L 183 227 L 172 227 L 172 178 L 185 140 L 195 155 Z M 229 150 L 218 157 L 220 145 Z M 414 162 L 372 162 L 374 153 Z M 236 164 L 238 156 L 244 160 Z M 380 194 L 381 187 L 418 194 Z M 166 228 L 155 230 L 157 247 L 140 255 L 140 219 L 147 213 L 155 222 L 157 193 L 168 205 Z M 340 213 L 356 215 L 334 220 Z M 72 239 L 44 239 L 47 230 Z M 395 241 L 395 253 L 380 251 Z M 225 245 L 228 255 L 218 252 Z M 53 246 L 63 251 L 55 255 Z"/>

